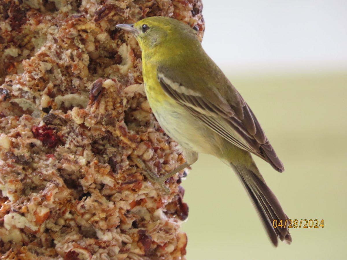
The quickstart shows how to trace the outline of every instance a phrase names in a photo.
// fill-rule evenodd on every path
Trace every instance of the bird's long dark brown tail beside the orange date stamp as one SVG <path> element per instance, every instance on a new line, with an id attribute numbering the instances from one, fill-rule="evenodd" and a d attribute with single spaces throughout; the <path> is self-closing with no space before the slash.
<path id="1" fill-rule="evenodd" d="M 288 225 L 290 223 L 286 221 L 288 217 L 283 212 L 283 209 L 281 208 L 276 196 L 269 189 L 268 185 L 266 185 L 262 180 L 259 171 L 256 172 L 256 166 L 253 170 L 249 170 L 246 166 L 233 165 L 231 163 L 230 166 L 235 170 L 236 174 L 243 183 L 272 243 L 277 246 L 278 237 L 281 241 L 290 244 L 291 236 L 288 230 Z M 276 219 L 277 222 L 273 224 L 274 219 Z M 280 220 L 282 220 L 281 223 Z M 278 224 L 280 224 L 282 227 L 280 227 Z M 276 226 L 276 228 L 274 226 Z"/>

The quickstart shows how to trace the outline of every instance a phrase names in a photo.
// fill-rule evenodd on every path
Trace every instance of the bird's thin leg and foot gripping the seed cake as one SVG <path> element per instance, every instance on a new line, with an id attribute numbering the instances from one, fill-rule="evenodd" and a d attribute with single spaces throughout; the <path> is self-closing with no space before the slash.
<path id="1" fill-rule="evenodd" d="M 134 162 L 141 167 L 144 171 L 142 171 L 142 173 L 147 177 L 147 179 L 149 179 L 151 182 L 155 182 L 158 183 L 165 191 L 166 194 L 170 194 L 170 190 L 168 187 L 166 187 L 165 185 L 165 181 L 167 179 L 169 179 L 170 177 L 174 176 L 176 173 L 178 173 L 179 171 L 183 170 L 184 168 L 188 167 L 189 164 L 187 162 L 185 162 L 184 164 L 178 166 L 175 170 L 173 170 L 172 172 L 165 174 L 162 177 L 159 177 L 158 175 L 156 175 L 154 172 L 150 171 L 148 169 L 148 167 L 145 165 L 145 163 L 138 157 L 132 157 L 132 159 L 134 160 Z"/>

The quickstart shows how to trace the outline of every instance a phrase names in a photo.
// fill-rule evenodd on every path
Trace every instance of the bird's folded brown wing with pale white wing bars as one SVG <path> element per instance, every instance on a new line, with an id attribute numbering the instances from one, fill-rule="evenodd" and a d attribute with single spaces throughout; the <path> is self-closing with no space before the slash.
<path id="1" fill-rule="evenodd" d="M 252 110 L 219 69 L 217 70 L 219 80 L 222 79 L 228 86 L 225 88 L 205 87 L 204 93 L 199 91 L 201 88 L 194 86 L 194 78 L 186 79 L 183 83 L 177 75 L 171 76 L 175 75 L 175 71 L 168 70 L 168 68 L 159 67 L 157 71 L 159 83 L 168 96 L 232 144 L 263 158 L 277 171 L 284 171 L 282 162 L 266 138 Z M 207 83 L 199 78 L 195 84 Z"/>

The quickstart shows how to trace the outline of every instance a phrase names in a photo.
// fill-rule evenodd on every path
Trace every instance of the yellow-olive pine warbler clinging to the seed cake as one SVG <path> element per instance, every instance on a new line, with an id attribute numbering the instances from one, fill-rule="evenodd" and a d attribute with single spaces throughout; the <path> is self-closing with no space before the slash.
<path id="1" fill-rule="evenodd" d="M 212 154 L 234 169 L 259 213 L 272 243 L 288 244 L 287 215 L 255 165 L 252 154 L 283 172 L 283 164 L 258 120 L 223 72 L 202 49 L 197 32 L 181 21 L 149 17 L 119 24 L 132 33 L 142 50 L 147 99 L 160 126 L 181 146 L 186 163 L 152 180 L 163 183 L 196 162 L 198 153 Z M 145 167 L 143 165 L 143 167 Z M 282 227 L 273 227 L 273 220 Z"/>

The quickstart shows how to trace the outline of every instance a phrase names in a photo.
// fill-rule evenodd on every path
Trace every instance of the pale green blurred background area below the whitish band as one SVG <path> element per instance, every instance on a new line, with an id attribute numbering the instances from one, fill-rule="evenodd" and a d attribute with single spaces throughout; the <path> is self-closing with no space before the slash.
<path id="1" fill-rule="evenodd" d="M 274 248 L 231 168 L 201 155 L 182 183 L 187 259 L 347 259 L 347 71 L 229 78 L 285 165 L 255 158 L 267 184 L 289 218 L 324 228 L 292 228 L 293 243 Z"/>

